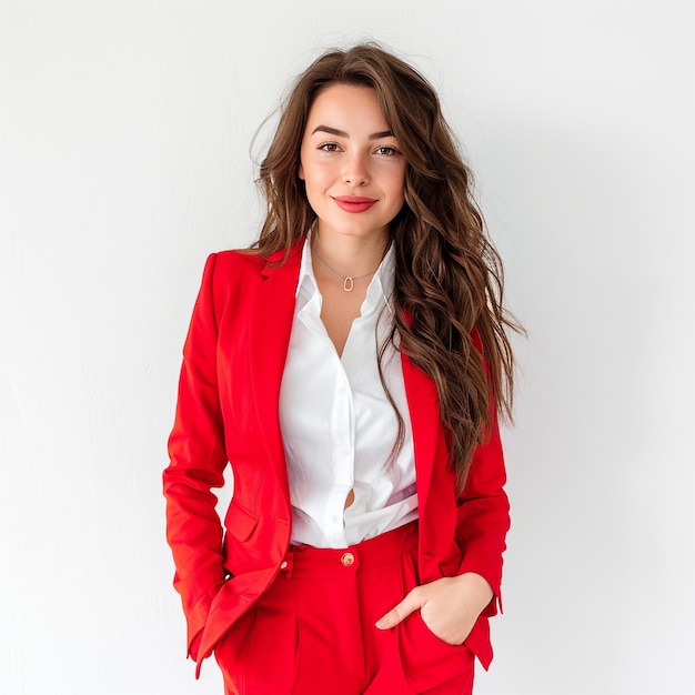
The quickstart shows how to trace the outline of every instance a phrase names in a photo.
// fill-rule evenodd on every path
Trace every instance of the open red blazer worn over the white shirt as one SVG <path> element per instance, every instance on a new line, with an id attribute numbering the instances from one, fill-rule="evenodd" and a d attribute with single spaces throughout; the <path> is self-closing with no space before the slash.
<path id="1" fill-rule="evenodd" d="M 212 254 L 183 349 L 169 440 L 171 463 L 163 480 L 174 587 L 181 594 L 189 654 L 198 669 L 274 580 L 290 543 L 292 516 L 278 401 L 301 243 L 279 264 L 282 256 Z M 487 617 L 500 604 L 510 526 L 496 419 L 457 497 L 455 477 L 446 465 L 434 383 L 406 356 L 402 364 L 415 451 L 420 577 L 426 583 L 476 572 L 487 580 L 495 597 L 466 639 L 486 668 L 492 659 Z M 223 485 L 228 462 L 234 491 L 223 533 L 211 487 Z"/>

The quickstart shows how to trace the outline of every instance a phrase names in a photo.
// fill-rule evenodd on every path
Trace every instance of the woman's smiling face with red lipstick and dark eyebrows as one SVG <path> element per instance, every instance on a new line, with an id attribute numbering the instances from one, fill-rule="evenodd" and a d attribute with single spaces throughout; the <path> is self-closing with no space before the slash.
<path id="1" fill-rule="evenodd" d="M 324 239 L 387 235 L 403 207 L 405 158 L 373 89 L 325 88 L 309 112 L 300 158 L 299 177 Z"/>

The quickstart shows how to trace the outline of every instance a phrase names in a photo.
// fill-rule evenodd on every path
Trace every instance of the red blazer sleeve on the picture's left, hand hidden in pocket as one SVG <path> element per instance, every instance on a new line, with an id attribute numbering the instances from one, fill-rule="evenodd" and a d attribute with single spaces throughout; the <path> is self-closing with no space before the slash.
<path id="1" fill-rule="evenodd" d="M 213 487 L 224 484 L 228 460 L 218 390 L 218 325 L 213 301 L 216 255 L 209 256 L 188 336 L 173 430 L 170 464 L 163 473 L 167 540 L 188 623 L 188 654 L 197 658 L 210 605 L 224 583 L 222 526 Z"/>

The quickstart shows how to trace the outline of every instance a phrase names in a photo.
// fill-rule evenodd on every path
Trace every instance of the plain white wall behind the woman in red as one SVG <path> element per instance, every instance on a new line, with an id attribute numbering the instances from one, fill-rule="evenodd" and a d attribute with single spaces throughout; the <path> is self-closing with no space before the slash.
<path id="1" fill-rule="evenodd" d="M 530 333 L 476 692 L 694 693 L 693 7 L 0 0 L 0 692 L 221 695 L 164 541 L 181 346 L 256 233 L 256 127 L 373 38 L 440 90 Z"/>

